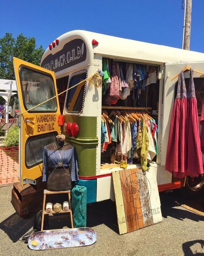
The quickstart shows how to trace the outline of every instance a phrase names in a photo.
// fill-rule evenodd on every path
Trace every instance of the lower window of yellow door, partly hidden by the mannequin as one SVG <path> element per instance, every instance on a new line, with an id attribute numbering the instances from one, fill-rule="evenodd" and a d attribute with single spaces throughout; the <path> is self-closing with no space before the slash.
<path id="1" fill-rule="evenodd" d="M 56 135 L 49 133 L 28 138 L 25 144 L 25 165 L 28 168 L 43 163 L 44 146 L 56 141 Z"/>

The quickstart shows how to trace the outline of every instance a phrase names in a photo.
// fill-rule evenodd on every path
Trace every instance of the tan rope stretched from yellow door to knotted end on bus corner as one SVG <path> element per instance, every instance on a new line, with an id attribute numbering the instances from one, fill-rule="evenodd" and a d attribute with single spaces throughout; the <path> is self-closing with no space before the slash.
<path id="1" fill-rule="evenodd" d="M 102 86 L 102 77 L 100 76 L 100 74 L 99 74 L 98 72 L 96 72 L 96 73 L 93 74 L 92 76 L 90 76 L 90 77 L 88 77 L 88 78 L 86 78 L 86 79 L 80 81 L 79 83 L 75 84 L 74 86 L 72 86 L 72 87 L 70 87 L 70 88 L 64 90 L 62 93 L 65 93 L 65 92 L 67 92 L 68 90 L 71 90 L 72 88 L 78 86 L 79 84 L 81 84 L 81 83 L 83 83 L 83 82 L 85 82 L 85 81 L 89 82 L 89 83 L 90 83 L 90 86 L 93 86 L 94 83 L 95 83 L 95 86 L 96 86 L 96 87 L 101 87 L 101 86 Z M 28 112 L 28 111 L 30 111 L 30 110 L 32 110 L 32 109 L 34 109 L 34 108 L 37 108 L 38 106 L 40 106 L 40 105 L 42 105 L 42 104 L 48 102 L 48 101 L 51 100 L 51 99 L 56 98 L 57 96 L 61 95 L 62 93 L 58 93 L 56 96 L 53 96 L 52 98 L 49 98 L 49 99 L 47 99 L 47 100 L 45 100 L 45 101 L 43 101 L 43 102 L 37 104 L 36 106 L 34 106 L 34 107 L 32 107 L 32 108 L 30 108 L 30 109 L 28 109 L 28 110 L 26 110 L 26 111 L 20 113 L 19 115 L 23 115 L 23 114 L 25 114 L 26 112 Z M 17 115 L 17 116 L 19 117 L 19 115 Z"/>

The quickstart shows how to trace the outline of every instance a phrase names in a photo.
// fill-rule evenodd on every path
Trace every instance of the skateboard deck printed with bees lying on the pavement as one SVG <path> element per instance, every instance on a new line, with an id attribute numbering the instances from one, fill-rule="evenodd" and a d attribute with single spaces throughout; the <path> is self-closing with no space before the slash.
<path id="1" fill-rule="evenodd" d="M 96 242 L 96 232 L 89 227 L 43 230 L 28 238 L 32 250 L 87 246 Z"/>

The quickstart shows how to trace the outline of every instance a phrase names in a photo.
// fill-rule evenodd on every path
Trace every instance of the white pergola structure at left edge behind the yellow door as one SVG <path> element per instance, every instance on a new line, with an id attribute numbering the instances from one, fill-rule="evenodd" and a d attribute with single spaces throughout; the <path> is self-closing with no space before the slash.
<path id="1" fill-rule="evenodd" d="M 15 80 L 0 79 L 0 96 L 6 100 L 6 123 L 9 122 L 9 102 L 11 96 L 16 94 L 13 91 L 17 91 Z"/>

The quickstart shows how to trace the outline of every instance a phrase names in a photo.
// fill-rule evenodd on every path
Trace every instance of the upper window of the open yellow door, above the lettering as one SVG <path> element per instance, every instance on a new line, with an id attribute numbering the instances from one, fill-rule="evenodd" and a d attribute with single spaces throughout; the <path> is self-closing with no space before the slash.
<path id="1" fill-rule="evenodd" d="M 21 67 L 19 74 L 25 109 L 30 109 L 55 96 L 53 79 L 49 75 L 26 67 Z M 54 98 L 30 110 L 30 112 L 53 112 L 56 110 L 57 102 Z"/>

